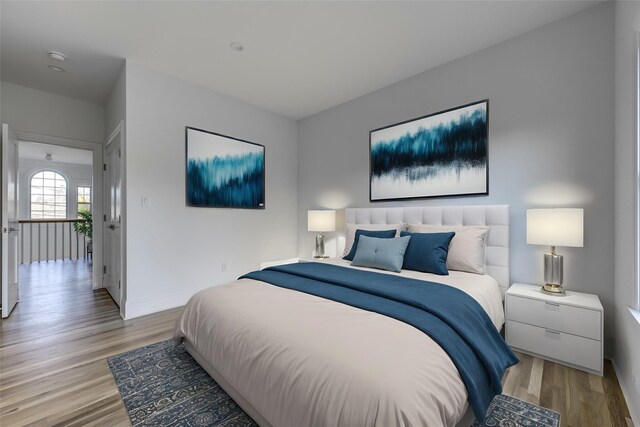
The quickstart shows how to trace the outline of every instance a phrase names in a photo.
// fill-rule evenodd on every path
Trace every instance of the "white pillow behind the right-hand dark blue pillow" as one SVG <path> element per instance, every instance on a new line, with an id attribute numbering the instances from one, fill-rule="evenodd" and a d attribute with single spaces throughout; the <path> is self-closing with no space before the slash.
<path id="1" fill-rule="evenodd" d="M 447 269 L 486 274 L 484 251 L 487 242 L 488 227 L 447 226 L 429 224 L 408 224 L 410 233 L 456 233 L 449 244 Z"/>

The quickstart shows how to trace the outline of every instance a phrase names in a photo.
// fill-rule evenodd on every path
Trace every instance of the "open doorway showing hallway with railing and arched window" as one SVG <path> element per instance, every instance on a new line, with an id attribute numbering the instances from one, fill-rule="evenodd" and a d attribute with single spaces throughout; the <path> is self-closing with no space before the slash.
<path id="1" fill-rule="evenodd" d="M 18 150 L 20 299 L 68 304 L 92 291 L 93 155 L 23 140 Z"/>

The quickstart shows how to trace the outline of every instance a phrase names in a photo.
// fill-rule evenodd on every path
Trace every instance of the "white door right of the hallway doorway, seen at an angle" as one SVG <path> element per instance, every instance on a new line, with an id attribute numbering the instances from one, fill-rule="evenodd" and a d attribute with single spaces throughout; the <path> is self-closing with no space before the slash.
<path id="1" fill-rule="evenodd" d="M 122 271 L 120 258 L 120 208 L 122 194 L 120 138 L 121 131 L 108 142 L 104 150 L 104 208 L 106 215 L 104 221 L 103 281 L 104 286 L 118 306 L 120 305 L 120 276 Z"/>

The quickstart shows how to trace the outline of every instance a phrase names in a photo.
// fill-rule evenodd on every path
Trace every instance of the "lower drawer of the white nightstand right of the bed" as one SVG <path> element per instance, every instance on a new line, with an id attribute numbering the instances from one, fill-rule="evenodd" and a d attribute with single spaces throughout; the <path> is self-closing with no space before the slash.
<path id="1" fill-rule="evenodd" d="M 526 352 L 602 372 L 602 343 L 507 320 L 507 343 Z"/>

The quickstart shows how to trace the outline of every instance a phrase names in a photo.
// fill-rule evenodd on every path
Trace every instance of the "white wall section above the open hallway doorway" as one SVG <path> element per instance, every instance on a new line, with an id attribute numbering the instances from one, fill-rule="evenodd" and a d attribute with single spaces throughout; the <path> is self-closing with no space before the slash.
<path id="1" fill-rule="evenodd" d="M 88 142 L 104 139 L 104 107 L 2 82 L 2 121 L 14 131 Z"/>

